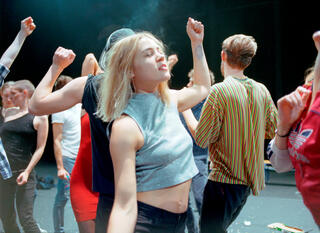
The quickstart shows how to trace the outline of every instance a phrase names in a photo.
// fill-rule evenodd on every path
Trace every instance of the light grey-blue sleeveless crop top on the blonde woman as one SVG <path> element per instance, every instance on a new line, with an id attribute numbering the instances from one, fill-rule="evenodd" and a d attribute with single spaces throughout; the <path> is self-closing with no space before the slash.
<path id="1" fill-rule="evenodd" d="M 134 94 L 124 113 L 136 121 L 144 137 L 136 153 L 138 192 L 177 185 L 198 173 L 192 140 L 176 105 L 165 105 L 157 93 Z"/>

